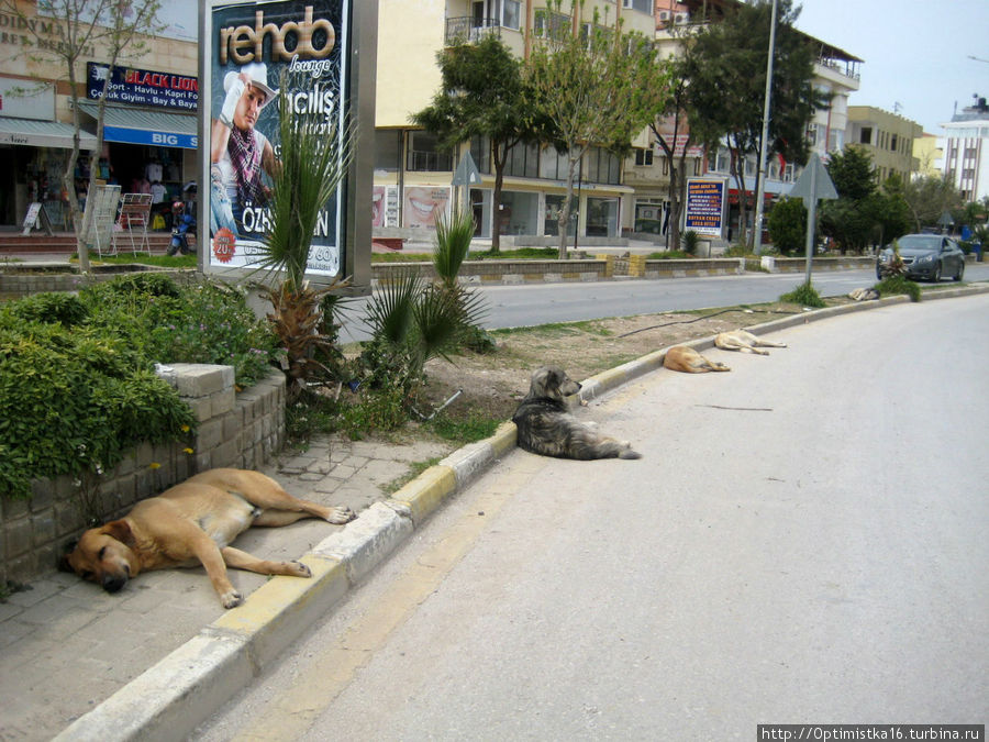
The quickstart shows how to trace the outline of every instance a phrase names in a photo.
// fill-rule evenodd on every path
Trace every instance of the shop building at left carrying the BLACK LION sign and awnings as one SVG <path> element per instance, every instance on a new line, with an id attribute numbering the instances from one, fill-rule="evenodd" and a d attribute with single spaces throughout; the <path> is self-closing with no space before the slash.
<path id="1" fill-rule="evenodd" d="M 73 229 L 63 173 L 73 148 L 74 114 L 81 126 L 75 170 L 80 199 L 93 167 L 101 182 L 120 184 L 123 192 L 154 192 L 162 204 L 180 198 L 196 177 L 199 145 L 198 3 L 163 3 L 165 27 L 148 53 L 121 59 L 100 152 L 95 152 L 95 97 L 105 78 L 105 45 L 82 49 L 76 70 L 82 102 L 74 112 L 68 70 L 58 57 L 69 30 L 35 2 L 16 0 L 16 13 L 0 10 L 0 229 L 20 226 L 32 202 L 44 204 L 54 229 Z M 156 180 L 159 186 L 152 190 Z"/>

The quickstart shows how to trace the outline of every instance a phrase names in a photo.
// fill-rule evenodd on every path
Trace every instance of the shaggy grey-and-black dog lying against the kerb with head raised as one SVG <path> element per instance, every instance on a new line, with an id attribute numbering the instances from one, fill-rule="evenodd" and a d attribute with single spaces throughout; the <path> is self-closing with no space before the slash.
<path id="1" fill-rule="evenodd" d="M 557 458 L 641 458 L 632 444 L 601 435 L 567 410 L 566 397 L 580 391 L 562 368 L 543 366 L 532 374 L 529 394 L 512 416 L 521 448 Z"/>

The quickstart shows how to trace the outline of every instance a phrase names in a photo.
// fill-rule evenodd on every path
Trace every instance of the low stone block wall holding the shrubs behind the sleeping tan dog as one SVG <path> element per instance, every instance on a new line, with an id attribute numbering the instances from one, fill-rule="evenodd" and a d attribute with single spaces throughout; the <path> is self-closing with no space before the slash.
<path id="1" fill-rule="evenodd" d="M 241 392 L 234 390 L 231 366 L 174 364 L 158 373 L 192 409 L 197 435 L 187 442 L 141 444 L 99 477 L 34 480 L 30 499 L 0 497 L 0 586 L 52 572 L 67 542 L 96 522 L 120 518 L 138 500 L 209 468 L 256 468 L 281 447 L 280 372 Z"/>

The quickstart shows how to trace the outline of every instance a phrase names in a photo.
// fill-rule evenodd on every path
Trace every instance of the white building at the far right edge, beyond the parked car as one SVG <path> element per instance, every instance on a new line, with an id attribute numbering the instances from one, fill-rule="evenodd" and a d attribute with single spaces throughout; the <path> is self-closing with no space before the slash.
<path id="1" fill-rule="evenodd" d="M 989 198 L 989 106 L 976 97 L 973 104 L 941 124 L 945 131 L 944 177 L 966 201 Z"/>

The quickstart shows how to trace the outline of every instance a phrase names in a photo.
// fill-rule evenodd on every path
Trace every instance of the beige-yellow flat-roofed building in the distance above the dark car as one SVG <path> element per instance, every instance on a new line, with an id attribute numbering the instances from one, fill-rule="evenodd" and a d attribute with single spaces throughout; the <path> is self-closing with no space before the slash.
<path id="1" fill-rule="evenodd" d="M 891 175 L 907 182 L 918 171 L 914 142 L 923 133 L 920 124 L 896 113 L 871 106 L 848 107 L 847 144 L 869 153 L 880 185 Z"/>

